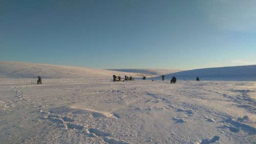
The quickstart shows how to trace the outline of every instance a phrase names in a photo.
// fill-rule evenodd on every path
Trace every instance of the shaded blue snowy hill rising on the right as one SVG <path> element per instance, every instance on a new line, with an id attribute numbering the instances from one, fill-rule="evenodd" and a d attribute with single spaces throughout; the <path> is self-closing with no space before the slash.
<path id="1" fill-rule="evenodd" d="M 165 78 L 170 79 L 173 76 L 178 79 L 192 80 L 199 76 L 201 80 L 256 81 L 256 65 L 195 69 L 168 74 Z"/>

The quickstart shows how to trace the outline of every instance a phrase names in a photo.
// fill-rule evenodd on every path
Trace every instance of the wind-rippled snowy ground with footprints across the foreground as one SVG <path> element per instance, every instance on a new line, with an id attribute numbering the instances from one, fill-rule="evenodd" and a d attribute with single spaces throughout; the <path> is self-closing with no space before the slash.
<path id="1" fill-rule="evenodd" d="M 0 143 L 255 143 L 256 82 L 0 81 Z"/>

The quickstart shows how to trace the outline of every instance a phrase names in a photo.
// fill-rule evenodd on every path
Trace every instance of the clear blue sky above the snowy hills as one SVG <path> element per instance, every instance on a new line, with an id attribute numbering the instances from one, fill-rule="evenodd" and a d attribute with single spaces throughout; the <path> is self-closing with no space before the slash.
<path id="1" fill-rule="evenodd" d="M 255 65 L 255 6 L 255 0 L 0 0 L 0 61 L 100 69 Z"/>

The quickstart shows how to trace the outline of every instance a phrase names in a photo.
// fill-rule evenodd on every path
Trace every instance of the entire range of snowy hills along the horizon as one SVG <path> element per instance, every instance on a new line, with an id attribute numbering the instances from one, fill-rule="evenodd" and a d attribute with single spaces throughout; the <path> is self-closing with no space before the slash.
<path id="1" fill-rule="evenodd" d="M 175 76 L 177 79 L 195 80 L 199 76 L 201 80 L 256 81 L 256 65 L 181 71 L 171 69 L 101 70 L 24 62 L 0 62 L 0 77 L 2 78 L 36 78 L 40 75 L 43 78 L 112 79 L 113 74 L 121 77 L 124 77 L 124 75 L 154 77 L 151 79 L 160 79 L 160 75 L 164 74 L 165 79 Z"/>

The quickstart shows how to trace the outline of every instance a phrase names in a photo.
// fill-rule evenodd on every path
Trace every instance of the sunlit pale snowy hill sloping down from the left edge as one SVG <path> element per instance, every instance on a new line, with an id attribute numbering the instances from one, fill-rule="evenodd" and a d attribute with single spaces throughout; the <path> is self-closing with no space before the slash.
<path id="1" fill-rule="evenodd" d="M 112 75 L 139 76 L 136 73 L 125 73 L 110 70 L 91 69 L 72 66 L 57 66 L 48 64 L 33 64 L 24 62 L 0 62 L 0 77 L 10 78 L 88 78 L 111 79 Z"/>

